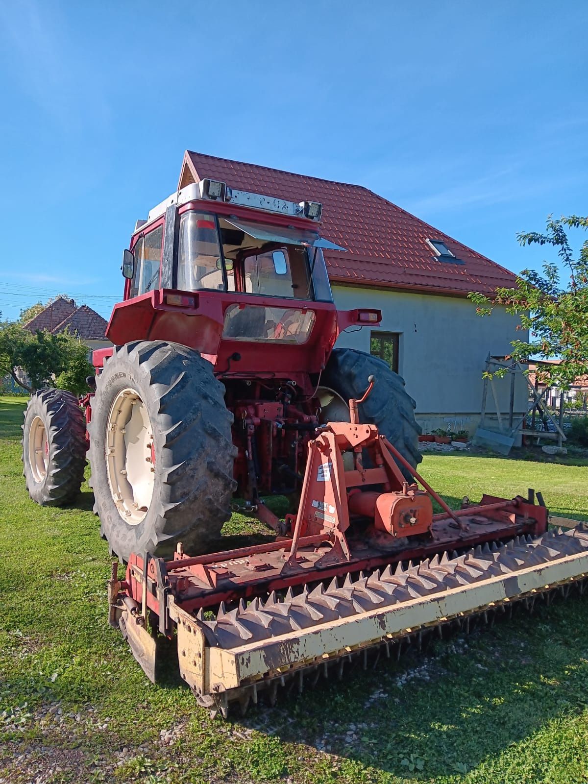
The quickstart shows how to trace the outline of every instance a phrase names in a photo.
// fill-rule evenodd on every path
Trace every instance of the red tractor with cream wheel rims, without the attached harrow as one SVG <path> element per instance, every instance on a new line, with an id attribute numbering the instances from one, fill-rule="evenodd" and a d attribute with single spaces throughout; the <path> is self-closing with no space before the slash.
<path id="1" fill-rule="evenodd" d="M 335 347 L 344 329 L 378 325 L 381 314 L 336 309 L 322 249 L 338 246 L 320 237 L 320 218 L 314 201 L 203 180 L 137 222 L 107 327 L 114 349 L 94 352 L 95 392 L 82 401 L 94 510 L 125 561 L 172 555 L 180 541 L 205 551 L 235 496 L 285 533 L 263 496 L 296 499 L 309 441 L 329 420 L 349 421 L 348 401 L 368 376 L 377 384 L 362 419 L 418 463 L 402 379 L 378 358 Z M 71 395 L 32 398 L 24 473 L 37 503 L 78 493 L 84 426 Z"/>

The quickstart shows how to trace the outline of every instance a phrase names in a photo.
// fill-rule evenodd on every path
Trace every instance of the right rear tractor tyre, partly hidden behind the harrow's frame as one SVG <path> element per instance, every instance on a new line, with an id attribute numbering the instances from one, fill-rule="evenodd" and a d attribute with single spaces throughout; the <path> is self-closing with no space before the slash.
<path id="1" fill-rule="evenodd" d="M 360 422 L 376 425 L 398 452 L 413 467 L 423 456 L 419 452 L 421 428 L 415 419 L 416 403 L 405 390 L 405 382 L 387 362 L 372 354 L 353 348 L 336 348 L 328 360 L 321 376 L 321 388 L 336 392 L 345 403 L 346 419 L 349 421 L 348 401 L 360 398 L 368 387 L 368 376 L 376 383 L 365 403 L 358 408 Z M 335 401 L 335 404 L 337 401 Z M 335 419 L 340 405 L 333 408 Z M 400 466 L 407 479 L 410 474 Z"/>

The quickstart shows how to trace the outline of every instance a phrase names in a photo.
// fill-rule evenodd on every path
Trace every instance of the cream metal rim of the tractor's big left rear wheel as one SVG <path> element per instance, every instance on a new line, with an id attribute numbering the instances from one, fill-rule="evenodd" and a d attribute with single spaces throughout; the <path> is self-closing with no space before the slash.
<path id="1" fill-rule="evenodd" d="M 108 415 L 106 466 L 118 514 L 129 525 L 140 523 L 151 504 L 155 480 L 153 428 L 147 406 L 136 390 L 125 389 Z"/>

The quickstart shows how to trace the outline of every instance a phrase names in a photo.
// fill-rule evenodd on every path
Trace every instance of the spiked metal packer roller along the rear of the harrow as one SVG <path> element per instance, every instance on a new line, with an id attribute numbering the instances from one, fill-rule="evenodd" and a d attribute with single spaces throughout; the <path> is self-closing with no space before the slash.
<path id="1" fill-rule="evenodd" d="M 540 568 L 542 564 L 549 566 L 551 575 L 561 574 L 564 577 L 557 585 L 552 583 L 550 586 L 543 586 L 542 583 L 529 583 L 530 586 L 535 584 L 538 587 L 530 587 L 528 593 L 524 595 L 509 594 L 510 598 L 507 596 L 502 600 L 490 601 L 488 604 L 472 607 L 448 618 L 437 617 L 433 622 L 426 620 L 429 617 L 426 614 L 424 616 L 416 614 L 415 619 L 420 617 L 425 619 L 420 626 L 416 623 L 410 628 L 401 626 L 400 630 L 397 630 L 394 623 L 382 626 L 380 639 L 370 639 L 364 643 L 353 641 L 347 648 L 343 647 L 346 638 L 341 637 L 339 652 L 321 654 L 321 648 L 310 648 L 309 650 L 314 650 L 315 656 L 314 659 L 309 660 L 310 663 L 300 666 L 300 663 L 286 660 L 285 664 L 279 666 L 282 668 L 288 666 L 287 673 L 282 669 L 281 674 L 270 680 L 262 679 L 250 682 L 246 687 L 235 687 L 234 697 L 228 698 L 228 702 L 226 695 L 216 695 L 214 698 L 216 710 L 225 715 L 227 705 L 232 700 L 236 700 L 243 714 L 249 704 L 256 704 L 262 688 L 266 690 L 270 705 L 274 705 L 280 684 L 286 686 L 289 692 L 295 690 L 301 693 L 305 677 L 307 677 L 307 684 L 314 688 L 321 674 L 328 678 L 329 668 L 341 680 L 347 662 L 354 667 L 361 666 L 363 670 L 366 670 L 368 665 L 375 668 L 383 658 L 383 652 L 386 658 L 390 658 L 394 652 L 395 659 L 399 660 L 407 648 L 422 652 L 435 636 L 442 640 L 456 630 L 469 634 L 481 626 L 492 628 L 498 614 L 505 619 L 511 618 L 513 608 L 526 608 L 529 613 L 532 613 L 538 600 L 545 601 L 546 605 L 549 605 L 556 594 L 568 597 L 572 586 L 581 594 L 586 589 L 586 572 L 568 578 L 565 575 L 569 572 L 560 571 L 559 566 L 552 562 L 564 561 L 566 557 L 576 554 L 583 556 L 586 550 L 588 550 L 588 528 L 580 532 L 550 531 L 535 539 L 528 535 L 518 535 L 509 543 L 500 545 L 495 542 L 483 543 L 463 551 L 460 555 L 455 551 L 452 554 L 445 552 L 434 554 L 420 563 L 408 561 L 403 564 L 398 561 L 394 565 L 388 564 L 381 571 L 356 572 L 354 575 L 347 573 L 344 579 L 334 576 L 328 582 L 314 581 L 312 587 L 309 584 L 301 586 L 296 593 L 292 587 L 289 587 L 285 593 L 276 593 L 272 590 L 264 600 L 254 597 L 249 604 L 241 597 L 238 606 L 229 604 L 229 607 L 233 607 L 230 610 L 227 610 L 227 604 L 221 602 L 216 620 L 213 621 L 205 620 L 204 612 L 199 609 L 196 619 L 205 632 L 207 645 L 219 648 L 241 648 L 242 651 L 244 646 L 251 643 L 253 650 L 256 647 L 261 650 L 265 640 L 273 642 L 281 635 L 297 631 L 306 633 L 307 637 L 310 633 L 312 637 L 314 626 L 322 624 L 328 626 L 339 618 L 353 618 L 354 615 L 376 611 L 379 613 L 383 610 L 384 615 L 374 617 L 390 619 L 396 612 L 397 604 L 412 601 L 416 608 L 423 608 L 423 599 L 438 596 L 452 589 L 459 590 L 462 592 L 459 595 L 465 596 L 468 595 L 471 586 L 471 596 L 484 597 L 487 595 L 485 587 L 480 586 L 478 589 L 476 583 L 492 578 L 496 578 L 500 583 L 505 579 L 504 575 L 510 572 L 516 575 L 518 571 L 531 568 L 535 568 L 537 574 L 543 575 L 543 570 Z M 585 563 L 586 561 L 579 561 L 579 564 Z M 438 606 L 440 608 L 450 606 L 444 604 L 445 602 L 445 597 L 440 596 Z M 403 617 L 404 611 L 401 608 L 399 610 L 400 615 L 394 617 Z M 390 632 L 387 632 L 388 629 Z M 372 650 L 373 655 L 370 655 Z M 322 661 L 321 655 L 324 657 Z M 264 675 L 264 678 L 266 677 L 267 675 Z"/>

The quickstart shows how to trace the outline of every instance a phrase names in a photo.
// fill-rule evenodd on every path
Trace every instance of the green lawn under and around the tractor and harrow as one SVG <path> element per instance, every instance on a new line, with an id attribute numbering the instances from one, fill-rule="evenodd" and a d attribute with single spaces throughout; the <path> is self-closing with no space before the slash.
<path id="1" fill-rule="evenodd" d="M 107 626 L 111 557 L 89 488 L 62 510 L 28 499 L 23 408 L 0 398 L 0 779 L 588 781 L 581 599 L 437 642 L 426 657 L 319 681 L 245 720 L 210 719 L 176 681 L 150 684 Z M 450 501 L 535 487 L 556 514 L 588 519 L 582 465 L 435 454 L 422 471 Z M 243 532 L 237 516 L 225 528 L 229 540 Z M 48 706 L 63 711 L 60 722 L 42 718 Z"/>

